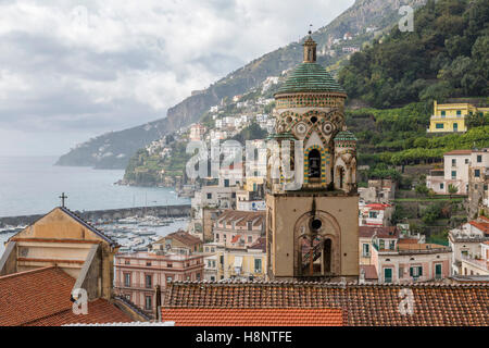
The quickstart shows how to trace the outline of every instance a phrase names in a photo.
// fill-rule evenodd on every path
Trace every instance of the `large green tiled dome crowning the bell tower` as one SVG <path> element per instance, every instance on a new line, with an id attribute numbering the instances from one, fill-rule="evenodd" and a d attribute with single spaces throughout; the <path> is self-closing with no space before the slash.
<path id="1" fill-rule="evenodd" d="M 300 64 L 275 95 L 296 92 L 346 92 L 333 76 L 317 63 Z"/>

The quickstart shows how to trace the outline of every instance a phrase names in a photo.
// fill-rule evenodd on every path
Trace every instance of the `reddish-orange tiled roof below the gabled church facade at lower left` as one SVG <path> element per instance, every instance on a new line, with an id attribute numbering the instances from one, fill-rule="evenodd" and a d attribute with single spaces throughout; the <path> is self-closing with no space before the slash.
<path id="1" fill-rule="evenodd" d="M 75 278 L 55 266 L 0 276 L 0 326 L 58 326 L 71 323 L 130 322 L 104 299 L 88 302 L 88 314 L 73 313 Z"/>

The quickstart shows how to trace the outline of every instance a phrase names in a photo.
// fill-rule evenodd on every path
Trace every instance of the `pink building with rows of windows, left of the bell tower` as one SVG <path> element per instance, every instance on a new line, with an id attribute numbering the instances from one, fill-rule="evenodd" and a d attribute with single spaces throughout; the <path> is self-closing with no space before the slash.
<path id="1" fill-rule="evenodd" d="M 162 291 L 173 281 L 203 279 L 203 256 L 135 252 L 115 256 L 116 295 L 124 296 L 146 312 L 155 308 L 154 287 Z"/>

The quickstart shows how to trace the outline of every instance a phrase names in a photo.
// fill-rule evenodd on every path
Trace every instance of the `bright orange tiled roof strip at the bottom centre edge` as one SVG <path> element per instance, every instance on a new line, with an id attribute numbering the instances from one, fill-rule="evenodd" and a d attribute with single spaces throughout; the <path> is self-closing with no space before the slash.
<path id="1" fill-rule="evenodd" d="M 162 316 L 175 326 L 343 326 L 341 309 L 327 308 L 174 308 Z"/>

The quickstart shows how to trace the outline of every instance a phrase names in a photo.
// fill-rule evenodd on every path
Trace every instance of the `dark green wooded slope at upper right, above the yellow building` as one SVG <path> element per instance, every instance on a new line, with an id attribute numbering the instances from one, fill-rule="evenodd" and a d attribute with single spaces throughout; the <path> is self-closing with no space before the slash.
<path id="1" fill-rule="evenodd" d="M 381 41 L 381 42 L 380 42 Z M 429 0 L 414 32 L 396 26 L 339 73 L 350 98 L 374 108 L 489 94 L 489 0 Z"/>

